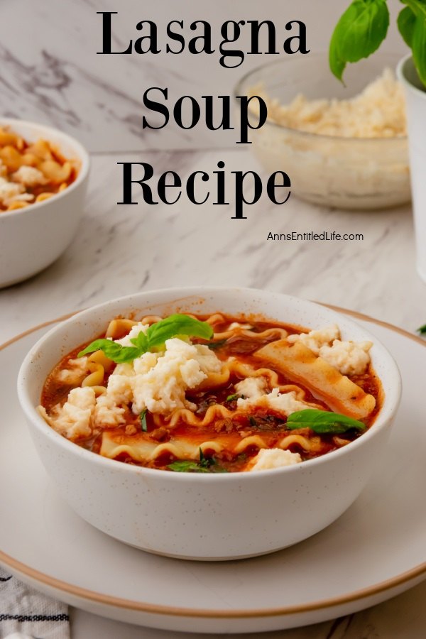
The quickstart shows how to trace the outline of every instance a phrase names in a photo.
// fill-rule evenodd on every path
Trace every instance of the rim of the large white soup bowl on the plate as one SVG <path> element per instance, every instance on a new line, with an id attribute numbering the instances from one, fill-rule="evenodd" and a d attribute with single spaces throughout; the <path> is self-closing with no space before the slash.
<path id="1" fill-rule="evenodd" d="M 293 302 L 293 300 L 297 300 L 298 303 L 302 302 L 304 305 L 312 307 L 312 309 L 320 307 L 322 310 L 324 310 L 325 312 L 327 312 L 327 314 L 330 315 L 330 319 L 335 317 L 337 321 L 339 320 L 338 312 L 332 309 L 329 309 L 327 307 L 324 307 L 318 304 L 317 302 L 311 302 L 310 300 L 305 300 L 301 297 L 296 297 L 295 295 L 286 295 L 285 293 L 278 293 L 276 291 L 268 291 L 268 290 L 256 289 L 256 288 L 224 287 L 224 286 L 208 286 L 208 287 L 207 286 L 191 286 L 191 287 L 162 288 L 162 289 L 155 289 L 155 290 L 149 290 L 149 291 L 139 291 L 138 293 L 132 293 L 130 295 L 125 295 L 123 297 L 116 297 L 113 300 L 108 300 L 107 302 L 101 302 L 97 305 L 94 305 L 80 312 L 77 312 L 75 315 L 72 315 L 72 317 L 69 317 L 67 320 L 60 322 L 57 326 L 50 329 L 45 335 L 43 335 L 43 337 L 41 337 L 38 340 L 38 342 L 36 342 L 31 347 L 30 351 L 28 352 L 25 359 L 23 360 L 23 363 L 21 364 L 21 368 L 18 372 L 18 382 L 17 382 L 18 399 L 19 399 L 19 402 L 21 403 L 21 408 L 23 408 L 23 412 L 26 414 L 26 417 L 28 418 L 28 420 L 31 421 L 33 425 L 36 425 L 38 427 L 38 430 L 40 430 L 43 433 L 43 435 L 47 435 L 49 439 L 51 439 L 53 442 L 58 444 L 61 448 L 64 448 L 65 451 L 70 453 L 74 452 L 74 454 L 77 457 L 82 457 L 82 459 L 87 459 L 87 461 L 92 461 L 92 463 L 96 464 L 97 466 L 116 469 L 116 471 L 119 471 L 121 469 L 121 471 L 124 473 L 133 473 L 136 475 L 148 474 L 148 476 L 151 476 L 151 477 L 159 476 L 160 474 L 162 479 L 164 478 L 168 479 L 170 477 L 170 479 L 173 479 L 173 481 L 183 481 L 183 482 L 190 481 L 191 483 L 194 481 L 194 478 L 197 478 L 196 481 L 225 481 L 226 482 L 226 481 L 238 481 L 239 479 L 241 480 L 241 476 L 244 476 L 244 478 L 247 478 L 247 479 L 244 479 L 244 481 L 256 481 L 256 476 L 258 476 L 259 474 L 261 474 L 262 476 L 266 474 L 269 474 L 271 476 L 276 476 L 279 473 L 295 473 L 295 472 L 301 472 L 304 469 L 309 470 L 309 469 L 312 469 L 314 466 L 326 464 L 327 459 L 337 459 L 337 457 L 339 456 L 348 454 L 348 450 L 350 452 L 351 450 L 354 450 L 356 447 L 366 445 L 369 439 L 371 439 L 372 437 L 375 437 L 375 434 L 376 432 L 378 432 L 378 430 L 382 430 L 384 427 L 387 427 L 389 425 L 389 421 L 393 418 L 396 410 L 398 409 L 398 405 L 400 403 L 400 395 L 401 395 L 401 388 L 402 388 L 400 371 L 398 369 L 398 366 L 395 360 L 389 353 L 388 349 L 386 349 L 386 346 L 384 346 L 376 336 L 372 335 L 370 332 L 368 332 L 368 330 L 364 329 L 364 327 L 361 327 L 361 329 L 363 333 L 365 334 L 366 338 L 370 338 L 371 341 L 373 341 L 374 345 L 378 346 L 378 348 L 383 351 L 383 355 L 386 356 L 386 358 L 388 359 L 388 366 L 391 369 L 392 376 L 393 376 L 393 384 L 394 384 L 393 395 L 391 397 L 389 395 L 386 395 L 383 406 L 381 407 L 381 411 L 378 413 L 378 416 L 376 417 L 375 422 L 373 422 L 373 425 L 370 428 L 368 428 L 368 430 L 366 430 L 366 432 L 364 432 L 360 437 L 357 437 L 356 439 L 354 439 L 354 441 L 350 442 L 350 444 L 347 444 L 346 446 L 342 448 L 331 451 L 320 457 L 307 459 L 306 461 L 302 461 L 299 464 L 293 464 L 291 466 L 283 466 L 281 468 L 274 468 L 274 469 L 264 469 L 264 470 L 259 470 L 256 472 L 241 471 L 241 472 L 230 472 L 230 473 L 223 473 L 223 474 L 222 473 L 203 474 L 203 473 L 185 473 L 185 472 L 176 473 L 176 472 L 164 471 L 162 469 L 146 468 L 145 466 L 124 464 L 122 462 L 117 461 L 116 459 L 109 459 L 108 457 L 102 457 L 102 455 L 94 453 L 87 449 L 84 449 L 78 444 L 71 442 L 66 437 L 63 437 L 63 435 L 60 435 L 52 427 L 50 427 L 47 422 L 45 422 L 43 417 L 41 417 L 41 415 L 38 414 L 37 410 L 35 409 L 35 406 L 33 406 L 33 403 L 28 393 L 27 382 L 26 382 L 26 371 L 28 368 L 31 368 L 33 356 L 35 356 L 35 354 L 37 353 L 39 349 L 43 348 L 43 346 L 45 345 L 45 342 L 48 342 L 50 337 L 53 334 L 55 334 L 56 332 L 59 332 L 68 324 L 72 324 L 75 321 L 84 320 L 85 316 L 86 317 L 90 316 L 97 310 L 102 310 L 104 309 L 104 307 L 107 307 L 108 305 L 114 305 L 118 302 L 120 304 L 125 305 L 126 302 L 131 302 L 131 300 L 134 300 L 135 297 L 143 296 L 143 297 L 146 297 L 148 301 L 151 295 L 157 295 L 158 293 L 161 293 L 163 295 L 170 294 L 170 295 L 173 295 L 175 298 L 179 298 L 179 299 L 185 296 L 189 297 L 190 295 L 199 295 L 200 298 L 203 298 L 212 293 L 223 293 L 224 291 L 230 291 L 230 290 L 235 290 L 243 294 L 244 293 L 247 293 L 247 294 L 271 293 L 272 295 L 278 295 L 280 297 L 285 298 L 286 300 L 290 300 L 290 303 Z M 173 303 L 173 297 L 171 297 L 170 300 L 171 300 L 170 303 Z M 355 327 L 359 327 L 359 324 L 354 322 L 351 318 L 348 319 L 347 317 L 344 317 L 344 320 L 345 322 L 349 322 L 349 324 L 352 324 Z"/>

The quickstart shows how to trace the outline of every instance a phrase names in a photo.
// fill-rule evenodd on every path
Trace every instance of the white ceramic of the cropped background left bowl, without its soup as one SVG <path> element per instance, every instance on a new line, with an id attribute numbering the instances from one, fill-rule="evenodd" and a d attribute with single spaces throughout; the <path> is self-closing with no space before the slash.
<path id="1" fill-rule="evenodd" d="M 89 175 L 89 155 L 80 142 L 50 126 L 1 118 L 26 141 L 43 138 L 60 148 L 65 158 L 80 160 L 77 179 L 44 202 L 25 209 L 0 212 L 0 288 L 31 278 L 65 251 L 82 214 Z"/>

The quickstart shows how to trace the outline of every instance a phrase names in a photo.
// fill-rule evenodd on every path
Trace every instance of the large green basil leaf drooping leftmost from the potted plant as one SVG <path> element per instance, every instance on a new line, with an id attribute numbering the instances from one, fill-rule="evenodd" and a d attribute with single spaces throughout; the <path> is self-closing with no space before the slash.
<path id="1" fill-rule="evenodd" d="M 354 0 L 339 19 L 329 48 L 332 72 L 342 80 L 346 62 L 368 58 L 386 38 L 389 10 L 386 0 Z"/>

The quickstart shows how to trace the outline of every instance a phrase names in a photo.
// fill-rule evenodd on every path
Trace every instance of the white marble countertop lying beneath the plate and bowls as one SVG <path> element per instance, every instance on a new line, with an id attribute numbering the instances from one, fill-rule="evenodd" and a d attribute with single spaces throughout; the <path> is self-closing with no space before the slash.
<path id="1" fill-rule="evenodd" d="M 181 175 L 216 168 L 250 170 L 246 150 L 143 153 L 158 172 Z M 69 249 L 47 270 L 0 290 L 0 342 L 55 317 L 140 290 L 178 285 L 266 288 L 371 315 L 414 332 L 426 322 L 425 285 L 415 273 L 410 206 L 378 212 L 338 211 L 290 197 L 247 207 L 118 206 L 117 161 L 141 154 L 92 155 L 84 222 Z M 337 231 L 362 241 L 271 241 L 268 234 Z M 425 635 L 426 583 L 379 606 L 317 626 L 266 633 L 288 639 L 420 639 Z M 72 608 L 72 639 L 183 636 L 138 628 Z M 194 635 L 195 639 L 207 635 Z M 209 635 L 213 636 L 213 635 Z M 218 635 L 214 635 L 218 636 Z M 240 635 L 242 636 L 242 635 Z M 249 637 L 250 635 L 244 635 Z M 254 636 L 254 635 L 251 635 Z"/>

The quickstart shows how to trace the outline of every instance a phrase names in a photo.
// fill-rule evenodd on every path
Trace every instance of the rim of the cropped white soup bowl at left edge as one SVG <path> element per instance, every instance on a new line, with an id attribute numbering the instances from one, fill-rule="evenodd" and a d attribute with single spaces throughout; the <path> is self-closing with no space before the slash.
<path id="1" fill-rule="evenodd" d="M 48 126 L 47 124 L 39 124 L 38 122 L 32 122 L 30 120 L 22 120 L 18 118 L 4 118 L 0 116 L 0 126 L 10 126 L 10 128 L 12 129 L 12 132 L 13 132 L 13 126 L 20 126 L 21 124 L 24 126 L 33 127 L 37 131 L 40 131 L 40 137 L 45 136 L 45 139 L 48 141 L 50 139 L 50 136 L 52 135 L 59 136 L 63 140 L 67 141 L 67 143 L 69 143 L 70 146 L 75 148 L 77 155 L 79 155 L 77 159 L 80 160 L 82 165 L 77 174 L 77 178 L 65 190 L 59 193 L 55 193 L 54 197 L 49 197 L 48 200 L 43 200 L 42 202 L 33 202 L 32 204 L 30 204 L 30 206 L 23 207 L 23 209 L 15 209 L 13 211 L 4 211 L 1 213 L 0 219 L 6 219 L 8 217 L 16 217 L 16 215 L 19 215 L 21 217 L 23 215 L 31 214 L 31 212 L 34 211 L 34 209 L 39 209 L 40 207 L 45 207 L 45 206 L 48 206 L 49 204 L 52 204 L 52 201 L 58 202 L 60 198 L 66 197 L 68 193 L 75 190 L 75 188 L 77 188 L 80 182 L 83 182 L 83 180 L 87 177 L 87 174 L 89 173 L 89 166 L 90 166 L 89 153 L 86 151 L 82 143 L 79 142 L 76 138 L 73 138 L 72 136 L 68 135 L 68 133 L 63 133 L 63 131 L 60 131 L 60 129 L 55 129 L 54 126 Z M 69 159 L 72 159 L 72 158 L 69 158 Z"/>

